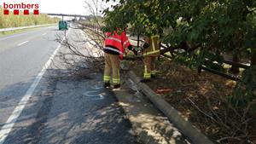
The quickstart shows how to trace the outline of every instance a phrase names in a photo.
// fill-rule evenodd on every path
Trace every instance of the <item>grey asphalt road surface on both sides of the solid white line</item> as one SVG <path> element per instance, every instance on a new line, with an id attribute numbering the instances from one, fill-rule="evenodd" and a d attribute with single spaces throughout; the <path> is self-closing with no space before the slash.
<path id="1" fill-rule="evenodd" d="M 0 144 L 137 143 L 113 93 L 102 88 L 101 73 L 79 78 L 56 74 L 63 70 L 50 67 L 27 102 L 19 104 L 59 47 L 52 40 L 63 32 L 56 28 L 0 37 L 0 140 L 6 121 L 16 114 L 13 112 L 17 107 L 24 105 Z M 76 31 L 70 29 L 68 37 Z"/>

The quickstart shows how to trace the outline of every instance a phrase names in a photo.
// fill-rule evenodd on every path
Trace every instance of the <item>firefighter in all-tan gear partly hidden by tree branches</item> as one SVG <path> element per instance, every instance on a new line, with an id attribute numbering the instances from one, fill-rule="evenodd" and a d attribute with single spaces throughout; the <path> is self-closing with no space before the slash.
<path id="1" fill-rule="evenodd" d="M 156 76 L 155 61 L 160 56 L 160 36 L 152 35 L 144 37 L 143 44 L 143 63 L 144 73 L 142 82 L 149 82 L 151 78 Z"/>

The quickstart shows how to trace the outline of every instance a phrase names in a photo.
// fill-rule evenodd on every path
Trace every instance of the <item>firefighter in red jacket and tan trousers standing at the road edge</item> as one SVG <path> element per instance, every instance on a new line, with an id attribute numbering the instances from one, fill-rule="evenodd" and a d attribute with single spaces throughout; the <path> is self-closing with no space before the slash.
<path id="1" fill-rule="evenodd" d="M 119 30 L 117 30 L 119 31 Z M 125 49 L 132 49 L 131 43 L 128 37 L 126 37 L 125 30 L 123 32 L 114 31 L 113 33 L 107 32 L 105 38 L 105 48 L 104 48 L 104 58 L 105 58 L 105 68 L 104 68 L 104 87 L 110 87 L 110 80 L 112 80 L 113 89 L 118 89 L 120 87 L 119 79 L 119 67 L 120 60 L 123 59 Z M 112 77 L 111 77 L 112 74 Z M 112 78 L 112 79 L 111 79 Z"/>

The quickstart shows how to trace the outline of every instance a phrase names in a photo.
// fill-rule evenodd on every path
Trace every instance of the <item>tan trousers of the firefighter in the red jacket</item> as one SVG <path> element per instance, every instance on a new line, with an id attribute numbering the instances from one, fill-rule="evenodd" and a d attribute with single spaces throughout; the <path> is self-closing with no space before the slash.
<path id="1" fill-rule="evenodd" d="M 109 83 L 111 80 L 110 78 L 112 78 L 113 85 L 120 84 L 119 55 L 111 55 L 108 53 L 104 53 L 104 58 L 105 58 L 105 68 L 104 68 L 104 77 L 103 77 L 104 83 Z"/>

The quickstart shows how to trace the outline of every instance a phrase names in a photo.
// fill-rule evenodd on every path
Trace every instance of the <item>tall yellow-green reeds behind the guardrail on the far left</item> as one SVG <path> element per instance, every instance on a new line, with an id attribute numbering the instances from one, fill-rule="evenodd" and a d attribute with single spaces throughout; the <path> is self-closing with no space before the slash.
<path id="1" fill-rule="evenodd" d="M 13 12 L 10 12 L 10 14 L 4 15 L 3 8 L 0 7 L 0 28 L 53 24 L 59 20 L 59 18 L 51 18 L 47 14 L 23 15 L 21 11 L 20 13 L 14 15 Z"/>

